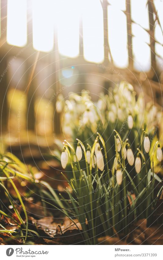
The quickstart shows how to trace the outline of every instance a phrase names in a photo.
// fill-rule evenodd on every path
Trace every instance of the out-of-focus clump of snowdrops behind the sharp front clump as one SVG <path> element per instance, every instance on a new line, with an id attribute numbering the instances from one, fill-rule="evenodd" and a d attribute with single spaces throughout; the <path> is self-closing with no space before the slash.
<path id="1" fill-rule="evenodd" d="M 91 139 L 93 143 L 97 131 L 106 131 L 106 136 L 114 129 L 124 135 L 123 132 L 133 127 L 150 132 L 158 126 L 161 113 L 153 102 L 145 105 L 142 94 L 137 100 L 135 96 L 132 85 L 125 82 L 109 88 L 107 95 L 100 93 L 96 103 L 86 90 L 81 95 L 70 92 L 68 100 L 59 94 L 56 111 L 60 114 L 64 135 L 72 140 L 77 136 L 83 142 Z"/>

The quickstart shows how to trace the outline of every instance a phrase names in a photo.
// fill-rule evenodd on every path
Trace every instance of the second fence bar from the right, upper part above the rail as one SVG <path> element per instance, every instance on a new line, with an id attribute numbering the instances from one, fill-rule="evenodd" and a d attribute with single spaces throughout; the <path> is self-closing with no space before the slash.
<path id="1" fill-rule="evenodd" d="M 127 18 L 127 39 L 128 39 L 128 64 L 133 68 L 133 53 L 132 53 L 132 20 L 131 20 L 131 1 L 126 0 L 126 18 Z"/>

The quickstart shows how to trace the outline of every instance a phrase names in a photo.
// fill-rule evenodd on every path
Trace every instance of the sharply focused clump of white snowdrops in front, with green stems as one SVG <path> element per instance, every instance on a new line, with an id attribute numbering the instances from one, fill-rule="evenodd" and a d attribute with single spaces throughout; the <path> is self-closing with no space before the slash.
<path id="1" fill-rule="evenodd" d="M 150 141 L 144 130 L 141 133 L 140 149 L 137 149 L 135 156 L 128 138 L 123 141 L 114 130 L 116 153 L 113 164 L 109 163 L 105 141 L 99 133 L 93 145 L 87 144 L 85 147 L 79 139 L 76 148 L 66 140 L 63 144 L 61 164 L 64 169 L 68 163 L 71 164 L 73 178 L 67 179 L 69 188 L 66 192 L 69 199 L 60 194 L 61 201 L 55 198 L 55 207 L 73 222 L 74 218 L 78 219 L 86 244 L 97 244 L 99 236 L 114 236 L 117 233 L 126 235 L 136 220 L 147 218 L 149 222 L 152 221 L 162 191 L 161 187 L 154 197 L 155 181 L 157 184 L 161 182 L 154 173 L 154 155 L 157 160 L 162 160 L 158 142 L 152 150 L 152 168 L 143 152 L 145 150 L 148 153 L 150 150 Z M 134 177 L 127 170 L 128 164 L 134 165 Z"/>

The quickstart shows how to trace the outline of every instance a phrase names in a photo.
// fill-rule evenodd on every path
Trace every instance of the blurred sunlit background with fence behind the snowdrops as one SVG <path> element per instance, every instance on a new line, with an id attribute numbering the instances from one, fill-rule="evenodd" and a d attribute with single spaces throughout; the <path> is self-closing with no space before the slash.
<path id="1" fill-rule="evenodd" d="M 162 0 L 1 0 L 2 150 L 39 160 L 61 136 L 56 99 L 125 81 L 162 109 Z M 38 149 L 39 148 L 39 149 Z"/>

